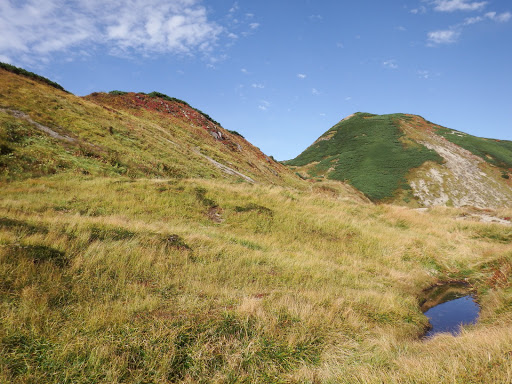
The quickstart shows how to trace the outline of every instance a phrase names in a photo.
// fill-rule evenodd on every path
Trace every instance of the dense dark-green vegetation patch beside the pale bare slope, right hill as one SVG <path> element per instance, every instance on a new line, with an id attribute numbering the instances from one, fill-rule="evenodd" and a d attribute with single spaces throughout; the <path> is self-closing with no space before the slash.
<path id="1" fill-rule="evenodd" d="M 398 119 L 407 116 L 356 113 L 286 164 L 312 164 L 312 177 L 329 171 L 329 179 L 346 180 L 372 200 L 393 197 L 398 188 L 407 188 L 406 175 L 412 168 L 426 161 L 442 162 L 436 152 L 407 140 Z"/>

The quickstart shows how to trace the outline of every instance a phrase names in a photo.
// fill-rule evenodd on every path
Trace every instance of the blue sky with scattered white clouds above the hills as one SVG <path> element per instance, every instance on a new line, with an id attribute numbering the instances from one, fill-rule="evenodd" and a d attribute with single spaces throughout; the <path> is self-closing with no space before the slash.
<path id="1" fill-rule="evenodd" d="M 279 160 L 356 111 L 512 140 L 509 0 L 0 0 L 0 61 L 183 99 Z"/>

